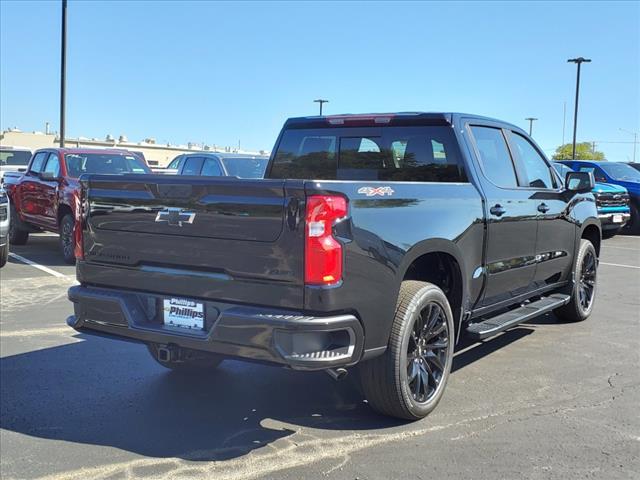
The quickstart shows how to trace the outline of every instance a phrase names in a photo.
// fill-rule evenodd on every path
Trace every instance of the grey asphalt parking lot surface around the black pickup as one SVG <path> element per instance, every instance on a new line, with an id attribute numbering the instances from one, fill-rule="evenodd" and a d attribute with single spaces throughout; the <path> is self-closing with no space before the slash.
<path id="1" fill-rule="evenodd" d="M 640 237 L 603 244 L 586 322 L 460 346 L 438 409 L 373 413 L 353 383 L 235 361 L 208 378 L 68 328 L 74 267 L 33 235 L 0 271 L 0 477 L 632 479 Z M 25 259 L 36 265 L 29 265 Z"/>

